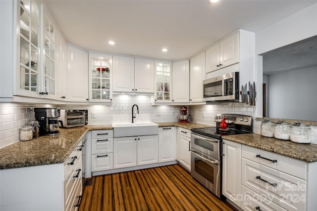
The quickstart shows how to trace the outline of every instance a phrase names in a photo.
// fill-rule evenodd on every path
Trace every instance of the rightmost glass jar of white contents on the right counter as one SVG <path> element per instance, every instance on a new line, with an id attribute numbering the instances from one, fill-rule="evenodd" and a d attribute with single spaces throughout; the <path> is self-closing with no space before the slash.
<path id="1" fill-rule="evenodd" d="M 311 143 L 311 127 L 308 125 L 301 125 L 296 123 L 291 128 L 291 141 L 296 143 Z"/>

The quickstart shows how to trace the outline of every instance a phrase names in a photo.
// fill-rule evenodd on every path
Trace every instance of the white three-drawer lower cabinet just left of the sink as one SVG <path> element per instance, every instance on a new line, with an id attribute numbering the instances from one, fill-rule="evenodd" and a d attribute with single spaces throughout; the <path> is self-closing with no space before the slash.
<path id="1" fill-rule="evenodd" d="M 113 169 L 113 130 L 94 130 L 91 139 L 91 171 Z"/>

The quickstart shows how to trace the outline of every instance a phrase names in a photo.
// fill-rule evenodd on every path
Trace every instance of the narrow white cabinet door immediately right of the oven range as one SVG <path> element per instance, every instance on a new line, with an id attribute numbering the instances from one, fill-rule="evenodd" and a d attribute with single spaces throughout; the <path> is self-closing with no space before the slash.
<path id="1" fill-rule="evenodd" d="M 241 206 L 241 144 L 223 140 L 222 194 Z"/>

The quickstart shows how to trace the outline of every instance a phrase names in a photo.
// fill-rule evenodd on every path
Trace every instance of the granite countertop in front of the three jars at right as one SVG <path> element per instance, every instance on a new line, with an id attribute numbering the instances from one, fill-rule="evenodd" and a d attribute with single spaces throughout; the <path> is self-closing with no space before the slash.
<path id="1" fill-rule="evenodd" d="M 317 162 L 316 144 L 299 144 L 275 138 L 262 137 L 260 134 L 225 135 L 223 139 L 256 147 L 265 151 L 284 155 L 306 162 Z"/>

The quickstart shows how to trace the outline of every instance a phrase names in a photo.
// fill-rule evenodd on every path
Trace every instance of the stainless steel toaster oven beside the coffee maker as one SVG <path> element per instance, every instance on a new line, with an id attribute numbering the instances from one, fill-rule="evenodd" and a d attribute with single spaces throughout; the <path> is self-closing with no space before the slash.
<path id="1" fill-rule="evenodd" d="M 88 110 L 60 110 L 60 127 L 81 127 L 88 124 Z"/>

